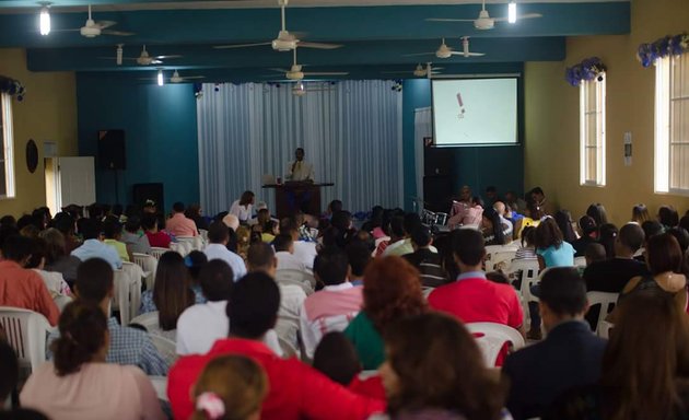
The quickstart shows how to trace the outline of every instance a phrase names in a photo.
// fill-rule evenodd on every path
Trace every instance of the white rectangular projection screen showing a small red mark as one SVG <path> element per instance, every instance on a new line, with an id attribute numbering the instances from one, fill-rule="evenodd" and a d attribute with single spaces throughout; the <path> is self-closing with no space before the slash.
<path id="1" fill-rule="evenodd" d="M 435 145 L 517 142 L 516 79 L 433 80 Z"/>

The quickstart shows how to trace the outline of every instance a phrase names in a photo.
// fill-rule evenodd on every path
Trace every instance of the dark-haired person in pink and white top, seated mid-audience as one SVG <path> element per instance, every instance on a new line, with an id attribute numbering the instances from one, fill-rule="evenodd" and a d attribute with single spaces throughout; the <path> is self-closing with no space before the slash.
<path id="1" fill-rule="evenodd" d="M 348 281 L 348 267 L 347 254 L 337 246 L 325 248 L 316 257 L 314 275 L 325 287 L 306 298 L 300 310 L 300 329 L 308 358 L 313 358 L 324 334 L 344 330 L 361 310 L 362 288 Z"/>

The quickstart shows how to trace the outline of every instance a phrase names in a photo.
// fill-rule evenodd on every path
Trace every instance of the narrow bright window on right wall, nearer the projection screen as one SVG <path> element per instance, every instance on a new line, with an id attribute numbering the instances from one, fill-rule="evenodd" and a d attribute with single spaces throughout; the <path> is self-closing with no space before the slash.
<path id="1" fill-rule="evenodd" d="M 605 73 L 580 86 L 580 183 L 605 185 Z"/>

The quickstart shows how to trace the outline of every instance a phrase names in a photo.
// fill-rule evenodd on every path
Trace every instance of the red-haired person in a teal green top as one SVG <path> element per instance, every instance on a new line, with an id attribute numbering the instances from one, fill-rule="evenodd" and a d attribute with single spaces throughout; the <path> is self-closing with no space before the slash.
<path id="1" fill-rule="evenodd" d="M 363 369 L 372 370 L 385 359 L 381 337 L 385 327 L 394 319 L 425 312 L 427 303 L 419 271 L 395 256 L 377 258 L 369 265 L 363 299 L 361 312 L 344 329 L 344 335 L 357 348 Z"/>

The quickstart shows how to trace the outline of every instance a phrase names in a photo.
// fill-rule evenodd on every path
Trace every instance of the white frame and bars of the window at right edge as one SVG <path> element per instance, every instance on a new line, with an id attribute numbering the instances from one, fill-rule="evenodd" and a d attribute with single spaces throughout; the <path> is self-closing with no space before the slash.
<path id="1" fill-rule="evenodd" d="M 678 70 L 678 62 L 682 66 L 684 72 L 689 74 L 689 54 L 680 56 L 668 56 L 659 58 L 655 61 L 655 110 L 654 110 L 654 192 L 668 194 L 676 196 L 689 196 L 689 175 L 686 176 L 687 183 L 681 187 L 682 180 L 679 179 L 679 187 L 673 186 L 673 170 L 681 170 L 682 166 L 689 165 L 689 158 L 686 162 L 681 162 L 678 168 L 673 167 L 673 147 L 684 145 L 689 150 L 689 132 L 685 133 L 685 141 L 676 141 L 673 138 L 673 106 L 675 103 L 682 103 L 689 106 L 689 94 L 677 97 L 674 96 L 675 71 Z M 684 68 L 686 66 L 686 68 Z M 689 84 L 689 78 L 681 80 L 681 83 Z M 688 89 L 689 91 L 689 89 Z M 679 122 L 681 124 L 681 122 Z M 682 132 L 684 133 L 684 132 Z M 680 137 L 682 137 L 680 135 Z"/>

